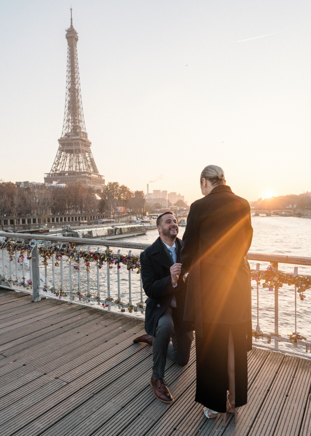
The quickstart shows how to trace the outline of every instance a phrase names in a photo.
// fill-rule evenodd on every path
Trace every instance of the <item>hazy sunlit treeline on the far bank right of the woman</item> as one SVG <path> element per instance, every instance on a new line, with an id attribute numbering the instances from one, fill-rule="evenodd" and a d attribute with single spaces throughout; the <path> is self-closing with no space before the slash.
<path id="1" fill-rule="evenodd" d="M 306 192 L 300 195 L 281 195 L 280 197 L 270 197 L 262 200 L 251 201 L 251 206 L 258 209 L 311 209 L 311 193 Z"/>

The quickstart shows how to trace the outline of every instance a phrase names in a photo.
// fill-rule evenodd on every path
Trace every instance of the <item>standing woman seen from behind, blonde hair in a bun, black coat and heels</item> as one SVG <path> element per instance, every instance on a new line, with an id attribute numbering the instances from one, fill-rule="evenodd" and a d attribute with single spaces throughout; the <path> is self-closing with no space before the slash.
<path id="1" fill-rule="evenodd" d="M 226 185 L 223 170 L 204 168 L 203 198 L 191 204 L 183 235 L 187 276 L 184 320 L 196 330 L 196 402 L 204 415 L 235 414 L 247 403 L 247 351 L 252 348 L 250 205 Z M 186 277 L 184 278 L 186 280 Z M 227 396 L 227 391 L 229 394 Z"/>

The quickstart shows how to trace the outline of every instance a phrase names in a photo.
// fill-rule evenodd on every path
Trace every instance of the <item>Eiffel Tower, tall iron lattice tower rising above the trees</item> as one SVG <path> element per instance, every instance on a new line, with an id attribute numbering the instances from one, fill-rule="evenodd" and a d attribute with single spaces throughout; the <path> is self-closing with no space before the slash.
<path id="1" fill-rule="evenodd" d="M 96 191 L 104 187 L 105 178 L 98 172 L 85 129 L 78 66 L 78 33 L 72 25 L 72 9 L 71 26 L 66 30 L 66 39 L 68 50 L 64 125 L 52 169 L 50 173 L 44 174 L 44 184 L 82 182 Z"/>

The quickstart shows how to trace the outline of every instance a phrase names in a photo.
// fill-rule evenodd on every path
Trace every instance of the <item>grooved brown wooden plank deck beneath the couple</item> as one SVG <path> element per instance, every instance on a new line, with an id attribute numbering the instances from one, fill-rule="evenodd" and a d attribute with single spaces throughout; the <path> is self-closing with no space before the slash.
<path id="1" fill-rule="evenodd" d="M 0 288 L 1 436 L 232 436 L 311 434 L 311 361 L 253 348 L 248 402 L 237 424 L 207 420 L 186 367 L 167 362 L 175 398 L 149 385 L 152 347 L 133 344 L 142 320 Z"/>

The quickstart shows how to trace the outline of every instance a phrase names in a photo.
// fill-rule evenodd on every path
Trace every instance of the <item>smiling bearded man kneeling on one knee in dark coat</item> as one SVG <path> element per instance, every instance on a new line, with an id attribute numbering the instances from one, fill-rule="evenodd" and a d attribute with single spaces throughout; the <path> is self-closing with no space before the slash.
<path id="1" fill-rule="evenodd" d="M 147 335 L 134 342 L 152 344 L 150 385 L 157 399 L 170 403 L 174 399 L 164 380 L 166 357 L 181 366 L 188 363 L 193 326 L 183 321 L 186 286 L 179 281 L 183 241 L 177 238 L 177 220 L 172 212 L 165 212 L 156 224 L 159 238 L 140 255 L 142 285 L 149 297 L 145 312 Z"/>

